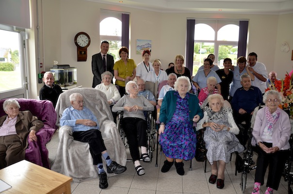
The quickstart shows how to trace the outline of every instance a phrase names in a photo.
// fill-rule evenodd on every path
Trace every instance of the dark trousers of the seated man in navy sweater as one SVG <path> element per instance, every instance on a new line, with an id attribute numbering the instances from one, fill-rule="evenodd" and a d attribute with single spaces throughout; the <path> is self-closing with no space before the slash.
<path id="1" fill-rule="evenodd" d="M 244 147 L 246 146 L 246 142 L 248 140 L 248 129 L 250 128 L 251 116 L 252 115 L 250 113 L 240 114 L 234 112 L 235 122 L 240 129 L 239 134 L 236 136 Z M 245 125 L 242 125 L 242 128 L 240 125 L 243 121 L 245 121 Z"/>

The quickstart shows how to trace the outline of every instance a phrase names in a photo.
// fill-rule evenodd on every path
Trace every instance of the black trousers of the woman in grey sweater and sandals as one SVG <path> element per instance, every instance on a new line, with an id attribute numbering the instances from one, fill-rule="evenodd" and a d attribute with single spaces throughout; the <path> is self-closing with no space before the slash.
<path id="1" fill-rule="evenodd" d="M 129 144 L 132 160 L 139 160 L 138 146 L 147 147 L 146 121 L 141 118 L 123 118 L 122 128 Z"/>

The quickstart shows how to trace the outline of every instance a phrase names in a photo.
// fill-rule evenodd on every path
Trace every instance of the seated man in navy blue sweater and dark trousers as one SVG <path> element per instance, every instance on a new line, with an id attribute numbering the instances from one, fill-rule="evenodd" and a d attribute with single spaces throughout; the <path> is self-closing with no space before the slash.
<path id="1" fill-rule="evenodd" d="M 250 119 L 254 109 L 262 102 L 262 94 L 260 89 L 251 85 L 251 78 L 247 74 L 240 77 L 242 87 L 238 88 L 232 98 L 232 107 L 234 110 L 234 117 L 237 124 L 245 121 L 243 138 L 240 140 L 245 146 L 248 139 L 247 130 L 250 126 Z"/>

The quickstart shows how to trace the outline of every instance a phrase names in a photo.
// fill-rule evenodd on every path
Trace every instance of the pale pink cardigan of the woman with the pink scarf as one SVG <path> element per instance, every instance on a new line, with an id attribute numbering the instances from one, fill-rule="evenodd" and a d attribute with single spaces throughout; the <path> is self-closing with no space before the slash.
<path id="1" fill-rule="evenodd" d="M 264 108 L 260 109 L 256 115 L 254 127 L 252 130 L 252 146 L 255 146 L 257 145 L 257 143 L 262 142 L 261 134 L 263 133 L 263 130 L 267 124 L 264 110 Z M 291 124 L 288 114 L 281 109 L 280 112 L 280 116 L 275 123 L 273 129 L 273 147 L 277 146 L 280 150 L 286 150 L 290 148 L 289 138 L 291 134 Z"/>

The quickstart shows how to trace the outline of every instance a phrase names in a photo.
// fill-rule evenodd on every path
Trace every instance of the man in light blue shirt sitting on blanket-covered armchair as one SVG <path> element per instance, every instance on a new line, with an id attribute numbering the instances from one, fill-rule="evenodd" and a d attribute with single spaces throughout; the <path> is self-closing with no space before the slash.
<path id="1" fill-rule="evenodd" d="M 72 106 L 64 110 L 60 126 L 71 126 L 74 140 L 87 142 L 90 145 L 94 165 L 98 165 L 99 187 L 105 189 L 108 187 L 108 182 L 101 156 L 107 163 L 108 173 L 121 174 L 126 171 L 126 167 L 110 159 L 101 132 L 98 130 L 98 119 L 88 108 L 83 106 L 82 95 L 73 93 L 69 96 L 69 100 Z"/>

